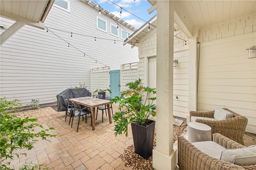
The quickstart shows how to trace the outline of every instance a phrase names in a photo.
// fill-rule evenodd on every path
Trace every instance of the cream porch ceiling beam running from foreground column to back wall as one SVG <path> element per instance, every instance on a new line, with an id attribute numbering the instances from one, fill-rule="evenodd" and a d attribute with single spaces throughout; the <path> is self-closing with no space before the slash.
<path id="1" fill-rule="evenodd" d="M 174 10 L 174 22 L 188 38 L 193 37 L 193 24 L 189 21 L 188 16 L 186 16 L 185 11 L 183 11 L 178 2 L 175 2 Z"/>

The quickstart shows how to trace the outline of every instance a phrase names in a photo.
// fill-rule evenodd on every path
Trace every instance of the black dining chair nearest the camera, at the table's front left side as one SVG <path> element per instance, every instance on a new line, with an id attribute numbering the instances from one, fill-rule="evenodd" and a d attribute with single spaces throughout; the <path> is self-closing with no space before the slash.
<path id="1" fill-rule="evenodd" d="M 91 117 L 92 117 L 92 112 L 89 108 L 87 109 L 82 109 L 80 105 L 76 104 L 76 103 L 73 103 L 73 106 L 74 106 L 74 111 L 72 112 L 72 123 L 71 123 L 71 128 L 73 126 L 73 120 L 74 120 L 74 117 L 75 116 L 78 116 L 78 123 L 77 123 L 77 130 L 76 132 L 78 132 L 78 128 L 79 128 L 79 123 L 80 123 L 80 117 L 82 116 L 83 117 L 83 120 L 84 120 L 84 115 L 87 115 L 87 114 L 90 114 Z M 71 118 L 71 116 L 70 116 Z M 86 122 L 86 121 L 85 121 Z M 91 120 L 92 122 L 92 120 Z"/>

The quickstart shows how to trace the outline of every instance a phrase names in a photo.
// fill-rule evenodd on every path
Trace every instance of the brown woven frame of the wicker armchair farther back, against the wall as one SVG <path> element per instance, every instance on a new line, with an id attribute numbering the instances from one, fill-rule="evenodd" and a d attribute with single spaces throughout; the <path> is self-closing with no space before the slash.
<path id="1" fill-rule="evenodd" d="M 233 117 L 228 118 L 226 120 L 221 120 L 221 121 L 197 119 L 196 122 L 204 123 L 211 126 L 212 133 L 220 133 L 225 137 L 228 137 L 229 139 L 244 145 L 243 137 L 244 137 L 245 128 L 248 122 L 247 118 L 244 116 L 238 115 L 237 113 L 230 111 L 227 108 L 223 108 L 223 109 L 232 113 Z M 214 115 L 214 111 L 209 111 L 209 112 L 190 111 L 190 118 L 191 116 L 213 118 L 213 115 Z"/>

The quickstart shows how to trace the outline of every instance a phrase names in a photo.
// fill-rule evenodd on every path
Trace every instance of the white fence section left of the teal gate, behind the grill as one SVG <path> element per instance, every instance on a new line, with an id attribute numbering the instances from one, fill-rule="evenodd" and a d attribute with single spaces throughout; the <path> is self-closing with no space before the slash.
<path id="1" fill-rule="evenodd" d="M 109 89 L 109 67 L 91 69 L 91 92 Z M 109 94 L 107 94 L 109 96 Z"/>

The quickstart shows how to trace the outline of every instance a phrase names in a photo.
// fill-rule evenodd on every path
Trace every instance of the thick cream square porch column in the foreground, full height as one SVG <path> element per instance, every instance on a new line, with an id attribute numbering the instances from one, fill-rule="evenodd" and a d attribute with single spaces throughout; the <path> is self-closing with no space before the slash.
<path id="1" fill-rule="evenodd" d="M 156 169 L 175 169 L 177 165 L 173 150 L 173 25 L 174 1 L 157 1 Z"/>

